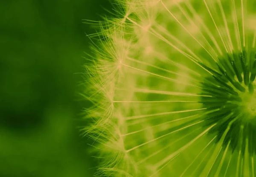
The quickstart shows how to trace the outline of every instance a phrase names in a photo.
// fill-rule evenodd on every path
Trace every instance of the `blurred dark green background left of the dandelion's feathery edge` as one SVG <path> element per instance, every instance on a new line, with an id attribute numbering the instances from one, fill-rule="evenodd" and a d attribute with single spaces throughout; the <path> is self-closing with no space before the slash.
<path id="1" fill-rule="evenodd" d="M 108 0 L 1 0 L 0 177 L 91 177 L 96 161 L 78 126 L 82 19 L 99 20 Z"/>

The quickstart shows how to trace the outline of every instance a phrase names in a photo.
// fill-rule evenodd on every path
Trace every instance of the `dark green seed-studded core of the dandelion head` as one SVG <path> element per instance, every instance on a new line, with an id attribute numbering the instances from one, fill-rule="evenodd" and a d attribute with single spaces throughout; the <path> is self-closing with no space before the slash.
<path id="1" fill-rule="evenodd" d="M 250 156 L 256 154 L 255 52 L 243 49 L 221 57 L 216 70 L 200 65 L 212 73 L 201 82 L 202 95 L 207 95 L 201 103 L 207 111 L 215 110 L 205 117 L 206 126 L 216 123 L 211 132 L 217 133 L 217 142 L 224 138 L 223 146 L 230 142 L 229 148 L 242 154 L 247 146 Z"/>

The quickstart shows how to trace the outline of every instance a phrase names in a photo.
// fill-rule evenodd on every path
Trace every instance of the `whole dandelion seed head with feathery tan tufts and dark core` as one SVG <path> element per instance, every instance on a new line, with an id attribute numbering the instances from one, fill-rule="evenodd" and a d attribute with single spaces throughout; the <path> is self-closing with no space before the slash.
<path id="1" fill-rule="evenodd" d="M 115 0 L 89 35 L 96 176 L 254 177 L 256 2 Z M 88 22 L 88 21 L 87 21 Z"/>

